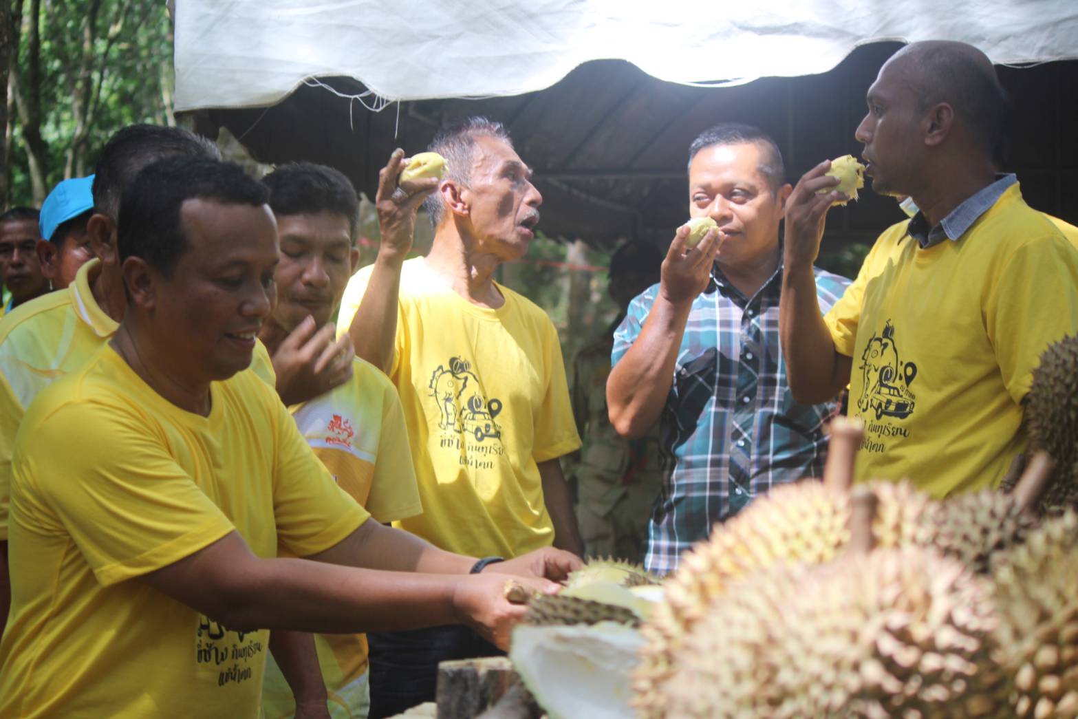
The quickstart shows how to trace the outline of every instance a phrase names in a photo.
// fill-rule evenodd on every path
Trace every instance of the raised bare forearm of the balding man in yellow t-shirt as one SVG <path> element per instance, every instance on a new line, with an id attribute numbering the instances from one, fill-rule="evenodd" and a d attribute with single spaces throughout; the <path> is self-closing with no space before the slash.
<path id="1" fill-rule="evenodd" d="M 786 360 L 786 379 L 798 402 L 826 402 L 849 382 L 849 361 L 835 350 L 819 312 L 812 266 L 786 266 L 778 331 Z"/>

